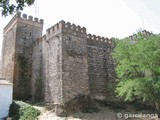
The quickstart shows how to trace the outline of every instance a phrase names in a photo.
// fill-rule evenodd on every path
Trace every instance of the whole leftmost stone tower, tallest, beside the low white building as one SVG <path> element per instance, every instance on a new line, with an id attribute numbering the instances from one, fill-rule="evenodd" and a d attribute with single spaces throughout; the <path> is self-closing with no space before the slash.
<path id="1" fill-rule="evenodd" d="M 32 45 L 42 29 L 42 19 L 17 13 L 3 30 L 2 77 L 14 84 L 14 99 L 31 98 Z"/>

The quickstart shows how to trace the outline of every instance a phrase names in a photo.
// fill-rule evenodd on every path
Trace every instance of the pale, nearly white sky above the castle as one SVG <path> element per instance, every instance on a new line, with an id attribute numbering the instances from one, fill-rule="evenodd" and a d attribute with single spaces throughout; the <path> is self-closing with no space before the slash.
<path id="1" fill-rule="evenodd" d="M 22 13 L 44 19 L 44 34 L 63 19 L 86 27 L 87 33 L 124 38 L 140 28 L 160 33 L 159 6 L 159 0 L 37 0 Z M 0 50 L 3 28 L 11 18 L 0 17 Z"/>

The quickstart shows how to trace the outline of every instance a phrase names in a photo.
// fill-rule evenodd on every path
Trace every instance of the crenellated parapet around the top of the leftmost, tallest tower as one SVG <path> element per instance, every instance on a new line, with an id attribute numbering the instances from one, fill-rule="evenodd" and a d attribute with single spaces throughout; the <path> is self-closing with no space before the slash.
<path id="1" fill-rule="evenodd" d="M 12 28 L 17 22 L 43 28 L 43 19 L 37 17 L 33 18 L 32 16 L 27 16 L 27 14 L 21 15 L 21 13 L 18 12 L 3 29 L 4 33 Z"/>

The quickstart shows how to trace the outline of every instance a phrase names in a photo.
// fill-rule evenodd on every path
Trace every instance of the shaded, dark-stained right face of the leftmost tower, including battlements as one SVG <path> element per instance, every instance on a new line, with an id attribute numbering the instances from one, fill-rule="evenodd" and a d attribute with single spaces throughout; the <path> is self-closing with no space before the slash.
<path id="1" fill-rule="evenodd" d="M 37 24 L 35 21 L 24 14 L 23 18 L 17 21 L 17 34 L 16 34 L 16 67 L 14 84 L 15 91 L 18 92 L 19 99 L 31 99 L 31 76 L 32 76 L 32 45 L 33 42 L 42 36 L 43 24 Z M 36 25 L 37 24 L 37 25 Z"/>

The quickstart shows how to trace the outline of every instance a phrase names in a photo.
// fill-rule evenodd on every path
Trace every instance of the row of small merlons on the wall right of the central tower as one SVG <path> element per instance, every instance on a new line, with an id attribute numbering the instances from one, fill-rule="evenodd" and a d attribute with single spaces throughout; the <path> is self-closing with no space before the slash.
<path id="1" fill-rule="evenodd" d="M 109 45 L 109 44 L 112 44 L 112 39 L 87 34 L 87 42 L 88 42 L 88 44 L 103 43 L 103 44 L 108 44 Z"/>

